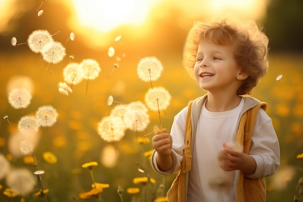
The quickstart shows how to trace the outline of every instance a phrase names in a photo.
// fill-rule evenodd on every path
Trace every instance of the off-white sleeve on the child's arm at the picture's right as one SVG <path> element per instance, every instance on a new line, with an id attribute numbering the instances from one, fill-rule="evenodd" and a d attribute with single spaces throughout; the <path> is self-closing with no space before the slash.
<path id="1" fill-rule="evenodd" d="M 249 178 L 262 178 L 273 175 L 280 166 L 280 147 L 271 118 L 259 109 L 249 154 L 257 163 L 255 173 L 245 175 Z"/>

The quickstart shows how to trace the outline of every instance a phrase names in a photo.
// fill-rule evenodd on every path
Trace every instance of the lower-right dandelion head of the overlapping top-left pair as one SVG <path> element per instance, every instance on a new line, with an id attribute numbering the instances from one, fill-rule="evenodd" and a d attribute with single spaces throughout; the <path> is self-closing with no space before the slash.
<path id="1" fill-rule="evenodd" d="M 60 42 L 50 42 L 46 44 L 41 52 L 43 60 L 48 63 L 57 64 L 61 62 L 66 55 L 65 47 Z"/>

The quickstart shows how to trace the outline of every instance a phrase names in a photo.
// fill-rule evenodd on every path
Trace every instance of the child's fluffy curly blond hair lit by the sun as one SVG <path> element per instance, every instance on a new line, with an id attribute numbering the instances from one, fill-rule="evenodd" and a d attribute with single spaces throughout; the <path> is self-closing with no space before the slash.
<path id="1" fill-rule="evenodd" d="M 248 75 L 238 95 L 250 94 L 268 70 L 268 37 L 253 20 L 228 16 L 212 19 L 210 23 L 195 22 L 183 49 L 183 66 L 193 78 L 197 49 L 202 40 L 235 46 L 234 58 Z"/>

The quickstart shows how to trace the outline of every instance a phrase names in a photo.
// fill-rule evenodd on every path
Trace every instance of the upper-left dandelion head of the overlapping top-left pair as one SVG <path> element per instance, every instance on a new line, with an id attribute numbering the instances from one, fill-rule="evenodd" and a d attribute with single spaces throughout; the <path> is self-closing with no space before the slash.
<path id="1" fill-rule="evenodd" d="M 28 38 L 30 50 L 35 53 L 41 53 L 46 44 L 53 42 L 52 35 L 46 30 L 35 30 Z"/>

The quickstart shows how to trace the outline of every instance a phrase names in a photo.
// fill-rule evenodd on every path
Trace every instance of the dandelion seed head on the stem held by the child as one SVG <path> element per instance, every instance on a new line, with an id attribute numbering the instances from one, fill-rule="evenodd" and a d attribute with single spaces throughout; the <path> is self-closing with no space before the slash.
<path id="1" fill-rule="evenodd" d="M 144 99 L 149 109 L 158 111 L 159 108 L 167 109 L 170 103 L 171 95 L 163 87 L 154 87 L 147 91 Z"/>

